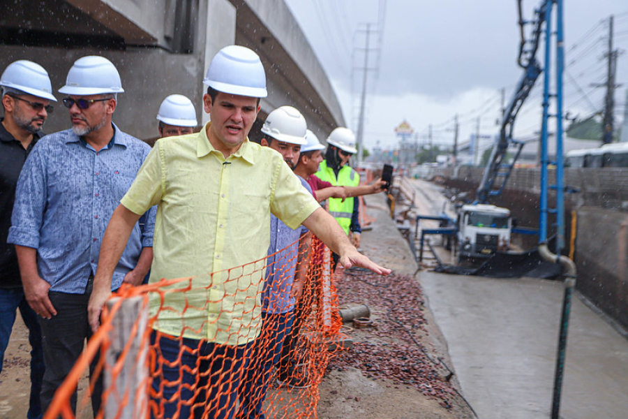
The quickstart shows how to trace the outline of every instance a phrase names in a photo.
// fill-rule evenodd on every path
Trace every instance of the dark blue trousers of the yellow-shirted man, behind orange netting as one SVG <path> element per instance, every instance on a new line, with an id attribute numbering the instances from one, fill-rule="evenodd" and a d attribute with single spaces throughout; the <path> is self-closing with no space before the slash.
<path id="1" fill-rule="evenodd" d="M 151 418 L 232 419 L 252 346 L 152 332 Z"/>

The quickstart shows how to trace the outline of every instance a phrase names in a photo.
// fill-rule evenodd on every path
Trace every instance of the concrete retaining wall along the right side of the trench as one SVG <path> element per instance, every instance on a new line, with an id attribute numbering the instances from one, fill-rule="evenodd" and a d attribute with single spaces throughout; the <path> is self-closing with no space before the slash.
<path id="1" fill-rule="evenodd" d="M 449 186 L 469 191 L 481 181 L 482 168 L 440 168 L 432 175 L 446 179 Z M 554 172 L 550 172 L 554 183 Z M 569 249 L 571 210 L 576 211 L 576 288 L 599 309 L 628 328 L 628 169 L 566 169 L 565 183 L 578 193 L 567 193 L 565 209 L 566 247 Z M 540 170 L 514 170 L 504 193 L 491 203 L 509 207 L 520 226 L 538 228 Z M 550 191 L 550 206 L 555 193 Z M 550 216 L 553 223 L 553 216 Z M 552 233 L 548 233 L 551 235 Z M 534 246 L 536 236 L 520 237 L 524 248 Z M 515 240 L 515 237 L 514 237 Z"/>

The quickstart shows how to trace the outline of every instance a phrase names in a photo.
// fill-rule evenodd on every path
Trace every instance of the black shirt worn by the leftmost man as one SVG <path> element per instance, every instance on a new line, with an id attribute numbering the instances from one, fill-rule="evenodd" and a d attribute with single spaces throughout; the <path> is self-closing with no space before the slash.
<path id="1" fill-rule="evenodd" d="M 0 119 L 2 122 L 4 118 Z M 15 140 L 0 124 L 0 288 L 20 288 L 20 267 L 17 265 L 15 246 L 6 243 L 6 236 L 11 226 L 11 212 L 15 201 L 17 178 L 33 149 L 33 145 L 43 136 L 36 133 L 28 149 Z"/>

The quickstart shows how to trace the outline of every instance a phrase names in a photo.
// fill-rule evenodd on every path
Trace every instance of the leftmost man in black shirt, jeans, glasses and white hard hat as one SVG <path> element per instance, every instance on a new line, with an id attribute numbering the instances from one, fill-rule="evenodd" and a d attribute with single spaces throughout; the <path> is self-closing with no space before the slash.
<path id="1" fill-rule="evenodd" d="M 41 128 L 52 105 L 48 73 L 39 64 L 27 60 L 15 61 L 0 78 L 4 117 L 0 119 L 0 373 L 4 352 L 13 329 L 17 309 L 29 330 L 31 351 L 31 398 L 27 418 L 40 418 L 43 411 L 39 400 L 44 374 L 41 329 L 37 315 L 24 295 L 20 267 L 13 244 L 6 236 L 11 226 L 15 187 L 24 161 L 35 143 L 42 137 Z"/>

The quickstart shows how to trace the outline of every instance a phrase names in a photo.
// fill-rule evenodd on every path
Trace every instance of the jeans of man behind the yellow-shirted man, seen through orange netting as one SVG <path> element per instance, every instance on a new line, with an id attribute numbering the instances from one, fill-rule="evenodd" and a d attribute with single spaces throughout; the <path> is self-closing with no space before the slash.
<path id="1" fill-rule="evenodd" d="M 245 369 L 239 390 L 237 419 L 264 419 L 264 399 L 272 369 L 281 358 L 281 346 L 290 333 L 294 312 L 267 314 L 262 311 L 262 332 L 254 341 L 251 361 Z"/>

